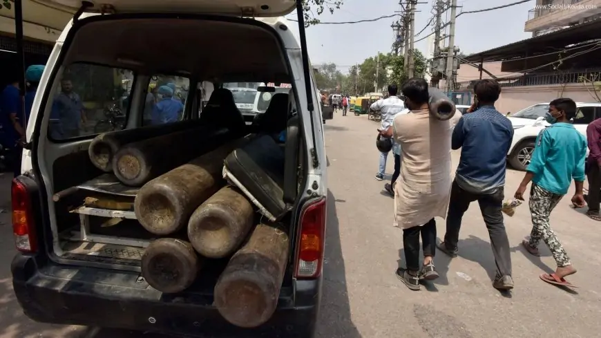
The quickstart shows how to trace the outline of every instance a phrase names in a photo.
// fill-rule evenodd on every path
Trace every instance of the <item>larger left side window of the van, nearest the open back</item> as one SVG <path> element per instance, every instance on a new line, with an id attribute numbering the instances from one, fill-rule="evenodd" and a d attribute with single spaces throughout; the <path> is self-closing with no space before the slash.
<path id="1" fill-rule="evenodd" d="M 57 77 L 48 136 L 67 140 L 124 129 L 133 86 L 132 71 L 77 63 Z"/>

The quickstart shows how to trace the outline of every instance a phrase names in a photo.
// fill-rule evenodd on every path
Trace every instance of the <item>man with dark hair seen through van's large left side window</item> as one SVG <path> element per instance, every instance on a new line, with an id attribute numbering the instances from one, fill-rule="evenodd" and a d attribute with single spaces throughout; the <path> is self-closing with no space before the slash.
<path id="1" fill-rule="evenodd" d="M 53 110 L 53 115 L 60 120 L 64 138 L 77 138 L 82 130 L 87 130 L 84 105 L 79 95 L 73 92 L 73 82 L 68 77 L 61 79 L 61 93 L 53 103 Z"/>

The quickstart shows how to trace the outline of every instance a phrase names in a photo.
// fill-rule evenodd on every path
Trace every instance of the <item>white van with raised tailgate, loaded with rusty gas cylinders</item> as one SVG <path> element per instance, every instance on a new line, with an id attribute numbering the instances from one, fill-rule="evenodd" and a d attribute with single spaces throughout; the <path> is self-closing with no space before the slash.
<path id="1" fill-rule="evenodd" d="M 313 337 L 321 299 L 327 182 L 320 97 L 309 67 L 300 1 L 39 2 L 74 17 L 41 77 L 26 131 L 22 175 L 12 183 L 19 250 L 12 261 L 12 281 L 23 311 L 46 323 L 207 337 Z M 282 17 L 295 9 L 300 41 Z M 274 116 L 254 126 L 259 134 L 274 129 L 274 123 L 298 130 L 280 144 L 285 161 L 277 184 L 283 187 L 274 188 L 271 198 L 285 207 L 274 222 L 286 229 L 290 247 L 283 283 L 274 285 L 279 296 L 270 301 L 277 308 L 263 325 L 234 326 L 216 309 L 213 288 L 227 260 L 206 260 L 198 279 L 182 292 L 160 292 L 140 272 L 146 247 L 156 237 L 142 231 L 131 210 L 82 205 L 94 194 L 114 194 L 118 200 L 140 189 L 126 187 L 112 171 L 92 165 L 88 154 L 97 136 L 93 126 L 105 119 L 105 107 L 117 89 L 124 89 L 118 88 L 122 77 L 133 79 L 122 112 L 125 131 L 202 124 L 207 114 L 216 119 L 219 113 L 238 116 L 231 95 L 220 86 L 225 82 L 292 84 L 287 104 L 271 109 Z M 204 109 L 201 82 L 216 88 Z M 151 84 L 158 94 L 149 92 Z M 186 100 L 167 102 L 164 87 L 171 84 L 199 89 L 188 91 Z M 161 95 L 158 102 L 156 95 Z M 151 113 L 151 122 L 144 111 Z M 155 120 L 157 111 L 164 115 Z M 227 127 L 232 121 L 221 122 Z M 214 142 L 212 137 L 198 135 L 198 144 L 204 147 Z M 288 142 L 291 138 L 294 142 Z M 165 159 L 191 149 L 178 142 L 158 147 L 153 156 Z M 170 161 L 161 165 L 173 165 Z M 255 310 L 267 306 L 257 303 Z"/>

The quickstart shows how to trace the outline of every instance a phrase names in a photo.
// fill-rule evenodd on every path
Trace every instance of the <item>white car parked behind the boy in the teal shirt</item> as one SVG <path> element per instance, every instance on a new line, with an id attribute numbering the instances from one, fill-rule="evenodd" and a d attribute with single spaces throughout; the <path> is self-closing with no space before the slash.
<path id="1" fill-rule="evenodd" d="M 576 106 L 578 111 L 572 123 L 586 137 L 586 126 L 601 117 L 601 103 L 576 102 Z M 538 133 L 550 125 L 544 120 L 547 111 L 548 103 L 540 103 L 508 116 L 513 124 L 513 141 L 507 159 L 514 169 L 525 171 L 530 164 Z"/>

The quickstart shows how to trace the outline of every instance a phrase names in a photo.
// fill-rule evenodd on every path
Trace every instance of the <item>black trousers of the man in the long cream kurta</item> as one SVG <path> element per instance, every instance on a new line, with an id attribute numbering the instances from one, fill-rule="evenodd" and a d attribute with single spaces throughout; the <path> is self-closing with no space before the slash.
<path id="1" fill-rule="evenodd" d="M 436 221 L 432 218 L 428 223 L 403 229 L 403 250 L 407 261 L 407 270 L 419 271 L 419 234 L 421 234 L 421 245 L 423 256 L 435 256 L 436 254 Z"/>

